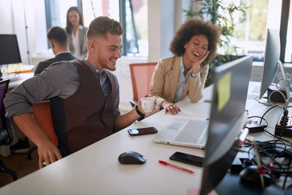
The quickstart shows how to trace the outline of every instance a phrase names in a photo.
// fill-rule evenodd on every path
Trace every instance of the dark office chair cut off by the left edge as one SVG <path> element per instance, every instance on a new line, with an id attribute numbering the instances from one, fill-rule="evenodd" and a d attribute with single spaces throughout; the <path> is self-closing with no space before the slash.
<path id="1" fill-rule="evenodd" d="M 0 81 L 0 146 L 8 146 L 13 141 L 10 120 L 5 117 L 5 107 L 3 104 L 3 99 L 7 93 L 8 85 L 9 79 Z M 13 181 L 18 179 L 17 173 L 8 169 L 2 160 L 0 160 L 0 172 L 11 175 Z"/>

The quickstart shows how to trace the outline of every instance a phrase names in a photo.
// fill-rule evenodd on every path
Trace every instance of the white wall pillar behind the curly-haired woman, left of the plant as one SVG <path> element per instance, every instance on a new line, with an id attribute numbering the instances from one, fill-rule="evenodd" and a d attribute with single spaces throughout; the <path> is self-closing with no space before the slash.
<path id="1" fill-rule="evenodd" d="M 185 20 L 183 9 L 191 5 L 192 0 L 148 0 L 149 62 L 172 56 L 170 42 Z"/>

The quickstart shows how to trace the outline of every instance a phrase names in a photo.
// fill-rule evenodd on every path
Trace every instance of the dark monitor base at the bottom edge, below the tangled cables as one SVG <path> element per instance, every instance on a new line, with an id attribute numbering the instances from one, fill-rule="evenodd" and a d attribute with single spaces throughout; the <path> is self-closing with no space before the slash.
<path id="1" fill-rule="evenodd" d="M 216 192 L 219 195 L 285 195 L 285 192 L 279 186 L 274 184 L 261 189 L 261 186 L 247 186 L 240 182 L 239 175 L 232 175 L 229 172 L 217 185 Z"/>

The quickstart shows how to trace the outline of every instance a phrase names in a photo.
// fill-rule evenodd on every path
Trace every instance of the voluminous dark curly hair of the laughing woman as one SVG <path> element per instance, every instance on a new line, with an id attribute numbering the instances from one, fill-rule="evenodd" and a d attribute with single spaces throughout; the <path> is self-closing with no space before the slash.
<path id="1" fill-rule="evenodd" d="M 205 22 L 201 19 L 188 19 L 176 32 L 170 43 L 169 50 L 176 56 L 182 56 L 184 45 L 195 35 L 205 35 L 208 39 L 208 57 L 202 65 L 210 63 L 217 55 L 217 44 L 221 42 L 220 30 L 211 22 Z"/>

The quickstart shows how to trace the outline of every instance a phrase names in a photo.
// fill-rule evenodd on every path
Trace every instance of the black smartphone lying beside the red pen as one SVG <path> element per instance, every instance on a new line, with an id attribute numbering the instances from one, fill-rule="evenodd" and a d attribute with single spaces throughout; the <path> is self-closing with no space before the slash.
<path id="1" fill-rule="evenodd" d="M 179 162 L 184 162 L 191 165 L 196 165 L 199 167 L 203 166 L 204 158 L 200 156 L 189 155 L 181 152 L 176 152 L 169 157 L 171 160 L 176 160 Z"/>

